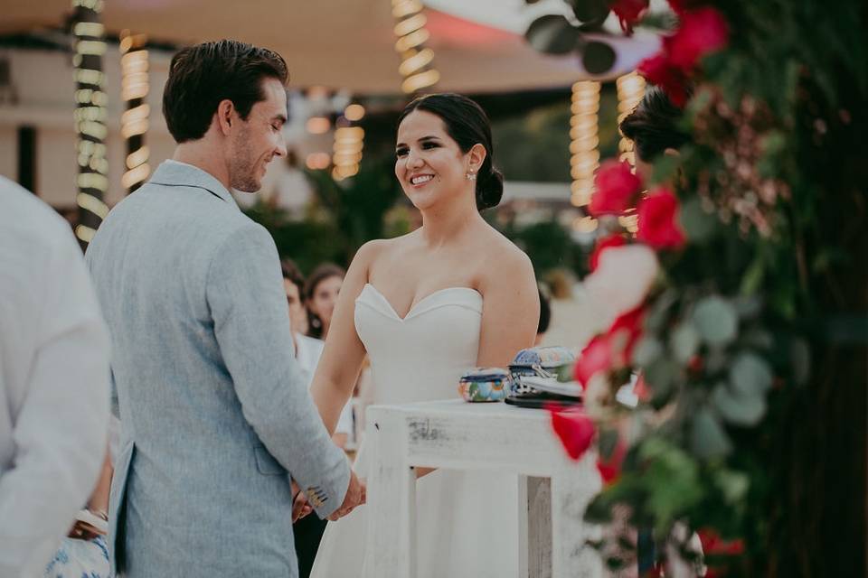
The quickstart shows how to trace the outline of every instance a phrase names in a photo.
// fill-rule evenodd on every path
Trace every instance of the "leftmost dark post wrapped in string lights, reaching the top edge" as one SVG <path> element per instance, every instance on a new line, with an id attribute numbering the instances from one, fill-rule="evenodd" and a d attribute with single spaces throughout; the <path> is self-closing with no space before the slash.
<path id="1" fill-rule="evenodd" d="M 75 39 L 75 130 L 78 135 L 79 175 L 76 178 L 76 203 L 79 206 L 79 224 L 75 235 L 81 248 L 87 247 L 109 212 L 104 201 L 109 189 L 109 163 L 103 140 L 106 127 L 106 93 L 103 90 L 105 74 L 102 55 L 106 53 L 105 28 L 99 22 L 102 0 L 72 0 L 72 33 Z"/>

